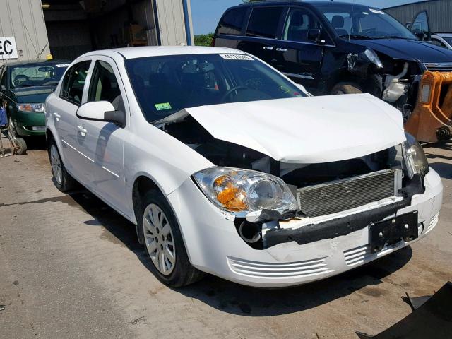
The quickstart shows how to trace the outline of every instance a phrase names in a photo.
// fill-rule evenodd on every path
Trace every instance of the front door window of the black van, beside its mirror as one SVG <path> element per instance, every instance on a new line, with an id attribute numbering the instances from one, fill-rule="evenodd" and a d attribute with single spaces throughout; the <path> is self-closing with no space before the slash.
<path id="1" fill-rule="evenodd" d="M 284 27 L 283 40 L 307 42 L 309 30 L 322 28 L 314 15 L 304 8 L 291 8 Z"/>

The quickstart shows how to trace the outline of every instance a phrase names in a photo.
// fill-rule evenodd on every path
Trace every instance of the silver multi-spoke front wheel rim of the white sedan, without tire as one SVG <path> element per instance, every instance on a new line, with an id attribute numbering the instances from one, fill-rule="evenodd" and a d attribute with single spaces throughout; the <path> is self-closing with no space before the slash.
<path id="1" fill-rule="evenodd" d="M 151 203 L 143 215 L 143 233 L 150 260 L 163 275 L 169 275 L 176 263 L 176 247 L 171 225 L 162 209 Z"/>

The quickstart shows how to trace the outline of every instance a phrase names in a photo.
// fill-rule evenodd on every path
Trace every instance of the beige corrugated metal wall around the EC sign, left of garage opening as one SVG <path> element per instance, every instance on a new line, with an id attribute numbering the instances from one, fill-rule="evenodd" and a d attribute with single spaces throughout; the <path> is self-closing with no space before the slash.
<path id="1" fill-rule="evenodd" d="M 0 0 L 0 36 L 15 37 L 20 61 L 45 59 L 50 53 L 41 0 Z"/>

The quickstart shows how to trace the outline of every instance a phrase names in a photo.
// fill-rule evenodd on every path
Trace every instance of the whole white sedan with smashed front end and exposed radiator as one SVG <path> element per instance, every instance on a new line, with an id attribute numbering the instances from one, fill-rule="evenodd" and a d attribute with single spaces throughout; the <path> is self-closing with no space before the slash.
<path id="1" fill-rule="evenodd" d="M 282 287 L 337 275 L 432 231 L 439 175 L 371 95 L 311 97 L 244 52 L 84 54 L 48 97 L 54 182 L 136 224 L 151 269 Z"/>

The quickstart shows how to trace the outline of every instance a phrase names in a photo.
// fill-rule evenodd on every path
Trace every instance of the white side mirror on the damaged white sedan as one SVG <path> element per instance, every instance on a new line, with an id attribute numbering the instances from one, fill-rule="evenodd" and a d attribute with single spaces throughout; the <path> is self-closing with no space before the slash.
<path id="1" fill-rule="evenodd" d="M 119 127 L 126 126 L 126 113 L 114 110 L 108 101 L 86 102 L 77 109 L 79 119 L 112 122 Z"/>

